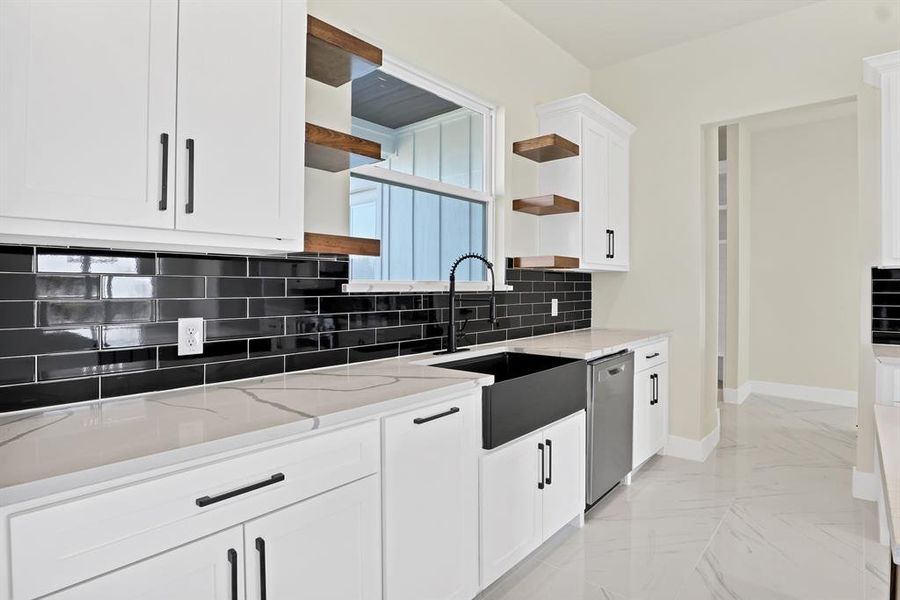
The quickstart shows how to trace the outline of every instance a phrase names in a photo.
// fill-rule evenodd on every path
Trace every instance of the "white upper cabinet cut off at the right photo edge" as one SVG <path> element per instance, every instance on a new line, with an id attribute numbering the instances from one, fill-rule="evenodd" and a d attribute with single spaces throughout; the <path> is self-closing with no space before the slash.
<path id="1" fill-rule="evenodd" d="M 864 60 L 866 83 L 881 88 L 881 263 L 900 267 L 900 50 Z"/>

